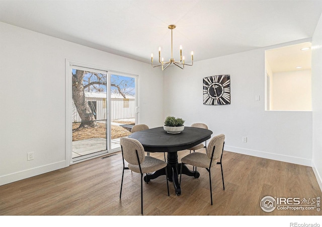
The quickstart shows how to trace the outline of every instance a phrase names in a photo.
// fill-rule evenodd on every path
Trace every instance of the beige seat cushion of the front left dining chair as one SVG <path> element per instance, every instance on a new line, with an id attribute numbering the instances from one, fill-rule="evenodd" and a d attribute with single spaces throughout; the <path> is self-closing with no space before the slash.
<path id="1" fill-rule="evenodd" d="M 154 171 L 163 169 L 167 166 L 167 163 L 153 158 L 151 156 L 145 156 L 144 162 L 141 163 L 142 173 L 152 173 Z M 128 164 L 128 168 L 133 172 L 140 173 L 139 165 Z"/>

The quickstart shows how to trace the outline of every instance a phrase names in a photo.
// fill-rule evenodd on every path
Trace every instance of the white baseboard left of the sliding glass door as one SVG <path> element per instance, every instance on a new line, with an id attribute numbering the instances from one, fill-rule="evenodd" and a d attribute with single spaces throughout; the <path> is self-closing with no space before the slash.
<path id="1" fill-rule="evenodd" d="M 24 170 L 21 172 L 8 174 L 4 176 L 0 176 L 0 186 L 9 184 L 15 181 L 20 181 L 22 179 L 26 179 L 29 177 L 34 177 L 40 174 L 48 173 L 54 170 L 62 169 L 66 167 L 66 161 L 61 161 L 58 163 L 52 163 L 46 166 L 40 166 L 29 170 Z"/>

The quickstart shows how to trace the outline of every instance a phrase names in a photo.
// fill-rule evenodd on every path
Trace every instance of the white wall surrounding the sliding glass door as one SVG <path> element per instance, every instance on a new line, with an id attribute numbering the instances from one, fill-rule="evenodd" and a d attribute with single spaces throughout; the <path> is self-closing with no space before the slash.
<path id="1" fill-rule="evenodd" d="M 0 34 L 0 185 L 68 163 L 66 59 L 138 74 L 139 120 L 162 125 L 162 72 L 149 64 L 5 23 Z M 28 152 L 34 160 L 27 161 Z"/>

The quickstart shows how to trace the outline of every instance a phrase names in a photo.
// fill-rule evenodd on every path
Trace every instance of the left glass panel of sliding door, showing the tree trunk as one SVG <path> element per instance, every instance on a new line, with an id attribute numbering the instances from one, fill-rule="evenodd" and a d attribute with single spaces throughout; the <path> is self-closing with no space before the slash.
<path id="1" fill-rule="evenodd" d="M 72 159 L 108 152 L 107 71 L 72 67 Z"/>

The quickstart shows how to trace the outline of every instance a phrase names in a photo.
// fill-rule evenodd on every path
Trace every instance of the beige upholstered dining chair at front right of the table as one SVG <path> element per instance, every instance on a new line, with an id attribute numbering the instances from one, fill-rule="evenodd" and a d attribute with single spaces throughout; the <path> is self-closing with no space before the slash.
<path id="1" fill-rule="evenodd" d="M 223 181 L 223 171 L 222 171 L 222 154 L 223 154 L 223 147 L 225 143 L 225 135 L 220 134 L 214 136 L 208 143 L 208 147 L 206 149 L 206 154 L 195 152 L 188 154 L 187 156 L 181 159 L 181 168 L 180 168 L 180 184 L 181 184 L 181 176 L 182 176 L 182 166 L 183 164 L 188 164 L 191 166 L 205 168 L 209 173 L 209 184 L 210 184 L 210 200 L 212 205 L 212 189 L 211 189 L 211 167 L 214 167 L 217 164 L 220 164 L 221 167 L 221 177 L 222 177 L 222 185 L 223 190 L 225 190 L 225 184 Z M 219 160 L 217 162 L 217 160 Z"/>

